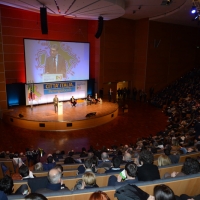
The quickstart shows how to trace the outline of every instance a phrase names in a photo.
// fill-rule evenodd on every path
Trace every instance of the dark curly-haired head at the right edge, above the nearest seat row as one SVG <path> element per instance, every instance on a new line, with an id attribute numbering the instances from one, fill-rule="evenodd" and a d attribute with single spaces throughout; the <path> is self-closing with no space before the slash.
<path id="1" fill-rule="evenodd" d="M 191 157 L 185 159 L 181 170 L 184 174 L 197 174 L 200 171 L 199 162 Z"/>

